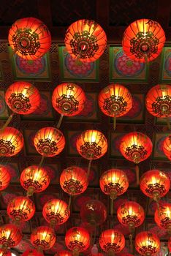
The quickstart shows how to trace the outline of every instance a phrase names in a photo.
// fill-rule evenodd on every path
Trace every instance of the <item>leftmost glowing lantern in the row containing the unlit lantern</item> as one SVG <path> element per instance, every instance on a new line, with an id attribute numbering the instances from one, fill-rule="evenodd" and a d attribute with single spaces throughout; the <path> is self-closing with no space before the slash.
<path id="1" fill-rule="evenodd" d="M 35 206 L 28 197 L 15 197 L 9 201 L 7 214 L 11 219 L 26 222 L 34 216 Z"/>

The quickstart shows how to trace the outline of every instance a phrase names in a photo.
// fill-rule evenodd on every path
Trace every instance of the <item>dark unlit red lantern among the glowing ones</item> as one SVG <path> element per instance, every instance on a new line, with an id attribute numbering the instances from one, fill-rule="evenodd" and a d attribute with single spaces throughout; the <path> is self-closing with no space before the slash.
<path id="1" fill-rule="evenodd" d="M 107 209 L 99 200 L 88 200 L 80 209 L 85 225 L 102 225 L 107 218 Z"/>

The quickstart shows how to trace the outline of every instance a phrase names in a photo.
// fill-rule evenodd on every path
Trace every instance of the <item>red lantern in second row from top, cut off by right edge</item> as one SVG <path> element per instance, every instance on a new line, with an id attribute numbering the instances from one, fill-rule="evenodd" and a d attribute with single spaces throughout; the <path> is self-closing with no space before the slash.
<path id="1" fill-rule="evenodd" d="M 171 116 L 171 86 L 158 84 L 146 95 L 145 105 L 151 115 L 159 118 Z"/>

